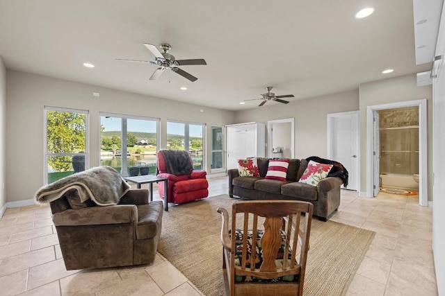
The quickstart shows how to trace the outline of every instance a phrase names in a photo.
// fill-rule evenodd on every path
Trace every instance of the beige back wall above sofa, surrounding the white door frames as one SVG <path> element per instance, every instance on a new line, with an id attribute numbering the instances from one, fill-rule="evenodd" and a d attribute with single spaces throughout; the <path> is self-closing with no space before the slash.
<path id="1" fill-rule="evenodd" d="M 327 114 L 358 110 L 359 92 L 354 89 L 289 104 L 268 104 L 236 112 L 235 123 L 295 118 L 295 157 L 327 157 Z"/>

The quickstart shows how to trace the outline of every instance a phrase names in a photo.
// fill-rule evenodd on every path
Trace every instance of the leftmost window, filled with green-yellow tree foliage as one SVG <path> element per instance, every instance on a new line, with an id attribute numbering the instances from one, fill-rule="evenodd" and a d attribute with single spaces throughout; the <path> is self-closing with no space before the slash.
<path id="1" fill-rule="evenodd" d="M 88 111 L 44 107 L 44 182 L 88 168 Z"/>

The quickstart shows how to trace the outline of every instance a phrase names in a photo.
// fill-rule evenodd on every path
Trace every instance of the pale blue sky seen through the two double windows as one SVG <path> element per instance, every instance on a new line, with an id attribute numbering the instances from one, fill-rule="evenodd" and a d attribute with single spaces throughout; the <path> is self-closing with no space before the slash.
<path id="1" fill-rule="evenodd" d="M 106 132 L 121 130 L 121 119 L 118 117 L 106 118 L 101 116 L 101 124 Z M 156 121 L 146 121 L 140 119 L 127 119 L 129 132 L 156 132 Z M 189 125 L 191 137 L 202 137 L 202 125 Z M 184 135 L 184 123 L 168 122 L 168 134 Z"/>

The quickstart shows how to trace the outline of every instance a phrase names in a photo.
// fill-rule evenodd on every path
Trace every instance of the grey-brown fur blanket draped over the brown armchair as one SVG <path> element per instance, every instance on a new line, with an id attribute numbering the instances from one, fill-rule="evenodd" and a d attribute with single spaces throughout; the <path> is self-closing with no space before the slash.
<path id="1" fill-rule="evenodd" d="M 118 204 L 130 186 L 114 168 L 98 166 L 75 173 L 43 186 L 35 193 L 38 202 L 52 202 L 65 195 L 67 200 L 86 202 L 91 199 L 100 206 Z"/>

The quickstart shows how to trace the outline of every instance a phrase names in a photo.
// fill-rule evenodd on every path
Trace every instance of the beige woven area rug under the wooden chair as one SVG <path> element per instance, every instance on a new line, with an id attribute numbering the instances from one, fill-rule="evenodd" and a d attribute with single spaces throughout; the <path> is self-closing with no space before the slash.
<path id="1" fill-rule="evenodd" d="M 218 195 L 164 212 L 158 250 L 204 295 L 225 295 L 221 217 L 236 199 Z M 373 240 L 366 229 L 312 219 L 304 295 L 342 295 Z"/>

